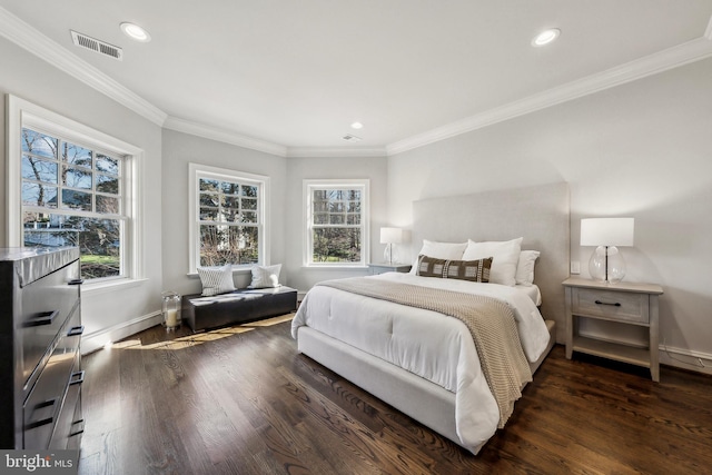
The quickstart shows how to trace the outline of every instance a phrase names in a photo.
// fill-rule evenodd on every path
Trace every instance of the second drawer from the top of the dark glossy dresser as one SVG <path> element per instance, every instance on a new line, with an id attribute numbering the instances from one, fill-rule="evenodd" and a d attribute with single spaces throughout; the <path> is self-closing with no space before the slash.
<path id="1" fill-rule="evenodd" d="M 78 326 L 79 323 L 80 314 L 77 308 L 67 325 L 61 328 L 57 346 L 24 402 L 23 448 L 44 448 L 49 444 L 67 387 L 73 378 L 75 365 L 78 365 L 79 360 L 79 342 L 83 330 Z"/>

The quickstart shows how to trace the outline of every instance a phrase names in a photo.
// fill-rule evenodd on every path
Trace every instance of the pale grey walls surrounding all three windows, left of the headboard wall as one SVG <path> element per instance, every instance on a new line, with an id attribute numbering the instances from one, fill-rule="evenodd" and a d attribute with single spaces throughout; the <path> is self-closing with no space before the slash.
<path id="1" fill-rule="evenodd" d="M 301 268 L 301 180 L 304 178 L 369 178 L 372 251 L 380 258 L 378 229 L 386 224 L 385 157 L 284 158 L 168 129 L 136 115 L 95 89 L 0 38 L 0 93 L 12 93 L 145 150 L 145 280 L 129 288 L 82 289 L 86 325 L 82 348 L 131 335 L 159 321 L 160 294 L 200 291 L 188 276 L 188 164 L 198 162 L 270 177 L 270 261 L 283 263 L 281 281 L 300 290 L 324 278 L 360 271 L 304 271 Z M 0 129 L 6 129 L 4 113 Z M 0 246 L 6 236 L 6 145 L 0 133 Z M 237 286 L 249 273 L 236 275 Z"/>

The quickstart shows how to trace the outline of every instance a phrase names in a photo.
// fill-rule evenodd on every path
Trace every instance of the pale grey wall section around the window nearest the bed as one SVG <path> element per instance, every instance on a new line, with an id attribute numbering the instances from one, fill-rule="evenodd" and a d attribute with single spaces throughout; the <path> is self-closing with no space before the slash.
<path id="1" fill-rule="evenodd" d="M 356 179 L 370 180 L 370 260 L 383 261 L 384 245 L 379 244 L 380 227 L 386 220 L 386 176 L 385 157 L 349 158 L 288 158 L 285 267 L 289 271 L 289 286 L 306 291 L 320 280 L 366 275 L 365 269 L 323 269 L 301 266 L 303 227 L 303 180 L 305 179 Z"/>

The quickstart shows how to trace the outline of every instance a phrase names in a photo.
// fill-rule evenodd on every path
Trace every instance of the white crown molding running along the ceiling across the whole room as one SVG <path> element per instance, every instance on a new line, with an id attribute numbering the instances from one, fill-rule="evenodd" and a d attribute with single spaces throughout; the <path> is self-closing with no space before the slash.
<path id="1" fill-rule="evenodd" d="M 0 36 L 158 126 L 280 157 L 393 156 L 712 57 L 711 18 L 704 34 L 695 40 L 451 122 L 424 133 L 388 144 L 385 147 L 323 148 L 287 147 L 246 137 L 237 132 L 169 117 L 156 106 L 121 86 L 88 62 L 81 60 L 59 43 L 50 40 L 40 31 L 2 7 L 0 7 Z"/>

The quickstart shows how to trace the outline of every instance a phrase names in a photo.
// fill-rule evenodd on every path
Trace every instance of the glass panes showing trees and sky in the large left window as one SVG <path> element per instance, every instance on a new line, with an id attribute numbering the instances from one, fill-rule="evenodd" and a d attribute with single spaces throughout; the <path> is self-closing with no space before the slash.
<path id="1" fill-rule="evenodd" d="M 21 152 L 23 245 L 78 246 L 82 278 L 121 276 L 123 159 L 30 128 Z"/>

